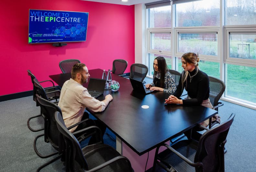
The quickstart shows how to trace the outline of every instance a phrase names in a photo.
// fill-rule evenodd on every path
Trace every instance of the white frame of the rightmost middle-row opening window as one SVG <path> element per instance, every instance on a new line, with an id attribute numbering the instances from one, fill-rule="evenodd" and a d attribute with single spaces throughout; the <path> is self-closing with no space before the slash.
<path id="1" fill-rule="evenodd" d="M 242 64 L 256 67 L 256 60 L 229 57 L 229 33 L 252 34 L 256 33 L 256 25 L 226 25 L 224 27 L 224 63 Z"/>

